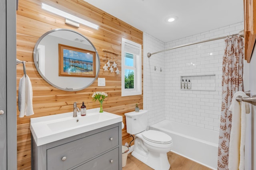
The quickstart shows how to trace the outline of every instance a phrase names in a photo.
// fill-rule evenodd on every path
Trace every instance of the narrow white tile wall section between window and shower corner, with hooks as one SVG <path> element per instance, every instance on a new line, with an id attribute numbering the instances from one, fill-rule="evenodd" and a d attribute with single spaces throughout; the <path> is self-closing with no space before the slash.
<path id="1" fill-rule="evenodd" d="M 143 33 L 143 108 L 148 110 L 148 125 L 165 119 L 165 55 L 158 53 L 154 57 L 147 57 L 147 53 L 161 50 L 164 50 L 162 41 Z"/>

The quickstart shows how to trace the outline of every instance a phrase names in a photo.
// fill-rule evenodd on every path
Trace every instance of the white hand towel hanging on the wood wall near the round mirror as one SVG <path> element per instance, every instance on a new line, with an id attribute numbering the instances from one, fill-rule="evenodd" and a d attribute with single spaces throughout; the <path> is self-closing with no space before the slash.
<path id="1" fill-rule="evenodd" d="M 32 84 L 28 75 L 22 76 L 19 83 L 18 92 L 18 107 L 20 111 L 19 117 L 30 116 L 34 114 L 33 104 L 32 104 L 33 92 Z"/>

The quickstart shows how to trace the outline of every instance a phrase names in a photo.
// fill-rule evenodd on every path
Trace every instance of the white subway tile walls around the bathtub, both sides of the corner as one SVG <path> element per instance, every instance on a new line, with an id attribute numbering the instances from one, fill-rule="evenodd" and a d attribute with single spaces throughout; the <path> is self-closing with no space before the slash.
<path id="1" fill-rule="evenodd" d="M 146 54 L 236 34 L 242 29 L 244 29 L 244 23 L 239 22 L 167 43 L 144 33 L 143 101 L 144 109 L 149 111 L 148 125 L 168 119 L 219 131 L 224 39 L 173 49 L 152 55 L 150 58 Z M 215 76 L 210 76 L 209 80 L 200 79 L 200 75 L 209 74 L 215 74 Z M 191 90 L 180 89 L 181 77 L 186 76 L 192 83 Z M 202 86 L 208 86 L 208 88 L 200 91 L 200 82 Z M 193 86 L 197 86 L 199 90 L 193 90 Z M 215 91 L 212 91 L 214 88 Z"/>

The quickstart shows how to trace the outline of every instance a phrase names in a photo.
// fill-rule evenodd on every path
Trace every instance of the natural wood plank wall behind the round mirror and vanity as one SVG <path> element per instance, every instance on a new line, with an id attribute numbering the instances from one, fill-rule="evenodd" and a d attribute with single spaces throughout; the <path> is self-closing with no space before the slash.
<path id="1" fill-rule="evenodd" d="M 66 25 L 65 18 L 42 10 L 42 2 L 96 23 L 100 28 L 96 30 L 81 24 L 79 28 Z M 100 56 L 100 72 L 98 77 L 106 78 L 106 86 L 98 87 L 96 80 L 84 90 L 66 92 L 52 87 L 42 79 L 33 61 L 34 45 L 41 35 L 56 28 L 73 29 L 92 41 Z M 19 118 L 19 111 L 17 109 L 18 170 L 31 169 L 30 118 L 32 117 L 70 112 L 74 102 L 78 102 L 78 106 L 85 102 L 87 109 L 99 107 L 99 103 L 93 102 L 91 98 L 92 93 L 96 91 L 108 93 L 108 98 L 103 104 L 104 111 L 122 115 L 124 123 L 124 113 L 134 111 L 136 103 L 139 104 L 140 108 L 143 108 L 143 95 L 121 97 L 121 74 L 116 75 L 114 72 L 104 72 L 102 69 L 106 63 L 106 61 L 103 61 L 106 57 L 104 57 L 105 53 L 102 52 L 102 49 L 110 51 L 114 49 L 114 52 L 119 54 L 119 56 L 116 56 L 116 63 L 119 70 L 122 70 L 120 57 L 121 37 L 141 45 L 143 42 L 142 31 L 83 0 L 19 0 L 17 11 L 17 59 L 26 61 L 26 73 L 32 82 L 35 114 Z M 19 80 L 22 76 L 23 68 L 22 64 L 19 64 L 17 65 L 17 94 Z M 123 145 L 131 140 L 132 138 L 126 133 L 126 128 L 124 128 L 122 130 Z"/>

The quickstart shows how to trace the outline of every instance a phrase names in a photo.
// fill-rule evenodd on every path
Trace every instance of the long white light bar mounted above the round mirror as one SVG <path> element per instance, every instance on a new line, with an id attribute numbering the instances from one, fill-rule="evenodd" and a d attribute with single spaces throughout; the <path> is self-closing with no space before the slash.
<path id="1" fill-rule="evenodd" d="M 67 18 L 69 20 L 81 23 L 83 25 L 87 25 L 88 27 L 92 27 L 94 29 L 99 29 L 99 26 L 94 24 L 94 23 L 91 23 L 89 21 L 83 20 L 83 19 L 78 18 L 76 16 L 73 16 L 71 14 L 68 14 L 68 13 L 66 13 L 66 12 L 64 12 L 62 10 L 58 10 L 57 8 L 53 8 L 52 6 L 46 5 L 44 3 L 42 3 L 42 9 L 46 10 L 46 11 L 49 11 L 49 12 L 52 12 L 52 13 L 54 13 L 56 15 L 62 16 L 64 18 Z"/>

